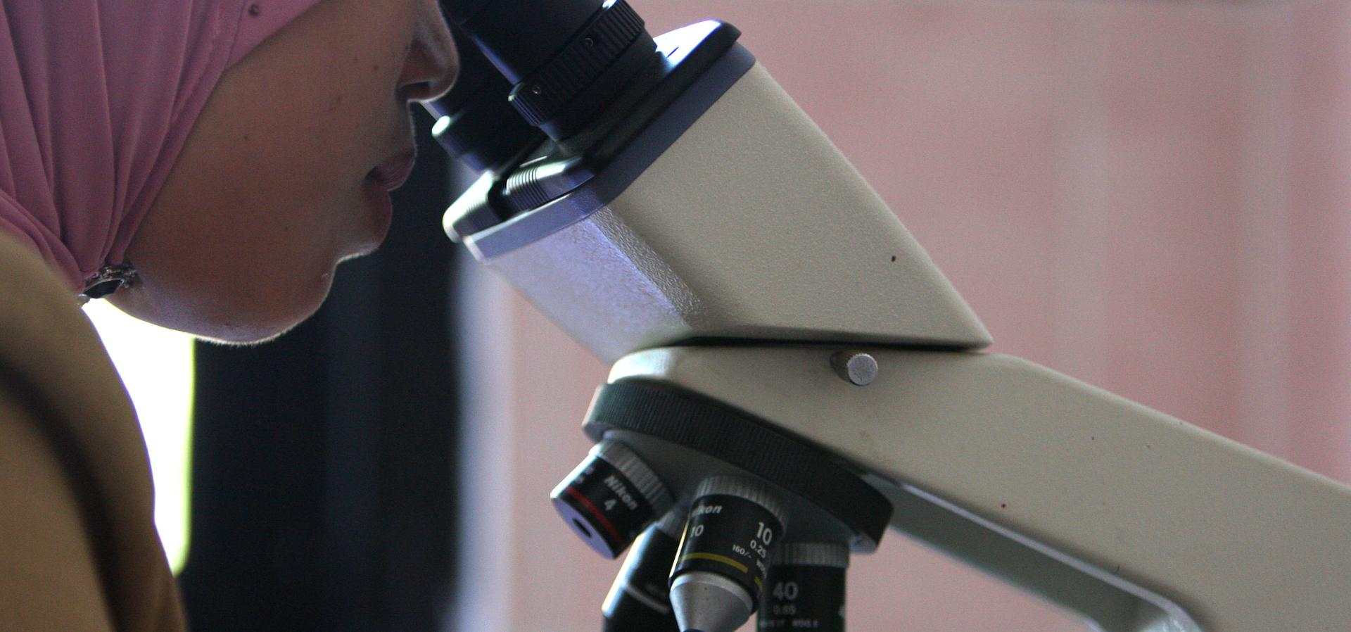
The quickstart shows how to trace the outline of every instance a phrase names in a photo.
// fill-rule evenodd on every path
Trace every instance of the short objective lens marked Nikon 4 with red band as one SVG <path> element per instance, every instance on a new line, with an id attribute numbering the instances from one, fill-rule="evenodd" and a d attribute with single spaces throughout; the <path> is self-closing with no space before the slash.
<path id="1" fill-rule="evenodd" d="M 554 488 L 554 509 L 586 544 L 617 558 L 674 500 L 632 450 L 605 439 Z"/>

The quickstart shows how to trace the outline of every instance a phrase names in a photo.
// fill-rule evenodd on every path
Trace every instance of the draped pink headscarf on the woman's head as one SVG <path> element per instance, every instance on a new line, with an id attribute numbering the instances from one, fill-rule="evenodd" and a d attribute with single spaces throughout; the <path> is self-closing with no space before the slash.
<path id="1" fill-rule="evenodd" d="M 0 231 L 122 263 L 220 76 L 317 0 L 0 3 Z"/>

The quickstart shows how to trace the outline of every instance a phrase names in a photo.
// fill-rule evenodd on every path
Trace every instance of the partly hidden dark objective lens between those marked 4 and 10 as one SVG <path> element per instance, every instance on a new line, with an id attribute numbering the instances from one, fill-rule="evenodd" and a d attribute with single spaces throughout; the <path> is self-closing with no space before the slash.
<path id="1" fill-rule="evenodd" d="M 634 543 L 601 606 L 605 632 L 680 632 L 667 577 L 684 527 L 685 512 L 673 509 Z"/>

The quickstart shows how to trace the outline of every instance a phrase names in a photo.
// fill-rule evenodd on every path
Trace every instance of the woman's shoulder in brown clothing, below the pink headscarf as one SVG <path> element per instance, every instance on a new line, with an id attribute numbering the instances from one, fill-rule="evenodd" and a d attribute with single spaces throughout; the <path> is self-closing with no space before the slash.
<path id="1" fill-rule="evenodd" d="M 0 629 L 181 629 L 126 389 L 61 277 L 3 231 L 0 443 L 0 593 L 18 600 Z M 92 614 L 45 614 L 59 593 Z"/>

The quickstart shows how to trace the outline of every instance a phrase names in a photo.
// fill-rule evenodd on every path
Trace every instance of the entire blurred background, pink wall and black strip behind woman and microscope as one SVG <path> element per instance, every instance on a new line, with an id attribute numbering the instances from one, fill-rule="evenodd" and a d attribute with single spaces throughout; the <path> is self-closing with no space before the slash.
<path id="1" fill-rule="evenodd" d="M 1351 4 L 632 4 L 740 27 L 993 351 L 1351 482 Z M 444 239 L 424 150 L 317 319 L 142 362 L 195 629 L 600 629 L 617 562 L 547 493 L 607 367 Z M 855 631 L 1084 629 L 894 533 L 850 582 Z"/>

